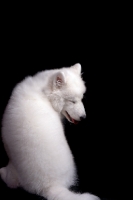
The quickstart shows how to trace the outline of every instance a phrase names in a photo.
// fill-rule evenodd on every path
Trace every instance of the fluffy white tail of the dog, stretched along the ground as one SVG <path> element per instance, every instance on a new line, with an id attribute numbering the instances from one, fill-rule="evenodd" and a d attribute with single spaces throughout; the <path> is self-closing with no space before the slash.
<path id="1" fill-rule="evenodd" d="M 97 196 L 89 193 L 74 193 L 64 187 L 50 187 L 47 191 L 46 198 L 48 200 L 100 200 Z"/>

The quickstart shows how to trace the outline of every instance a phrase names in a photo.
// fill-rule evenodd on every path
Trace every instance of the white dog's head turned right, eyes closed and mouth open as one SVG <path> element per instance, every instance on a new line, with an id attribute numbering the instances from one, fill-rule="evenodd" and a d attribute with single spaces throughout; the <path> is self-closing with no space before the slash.
<path id="1" fill-rule="evenodd" d="M 85 118 L 82 98 L 86 88 L 81 78 L 81 65 L 59 69 L 52 80 L 51 103 L 54 109 L 74 124 Z"/>

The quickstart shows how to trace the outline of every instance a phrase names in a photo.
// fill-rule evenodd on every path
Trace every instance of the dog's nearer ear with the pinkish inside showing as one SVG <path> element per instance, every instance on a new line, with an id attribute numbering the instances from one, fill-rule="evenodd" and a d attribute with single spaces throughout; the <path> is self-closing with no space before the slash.
<path id="1" fill-rule="evenodd" d="M 54 87 L 61 88 L 66 83 L 65 75 L 63 72 L 57 72 L 54 76 Z"/>

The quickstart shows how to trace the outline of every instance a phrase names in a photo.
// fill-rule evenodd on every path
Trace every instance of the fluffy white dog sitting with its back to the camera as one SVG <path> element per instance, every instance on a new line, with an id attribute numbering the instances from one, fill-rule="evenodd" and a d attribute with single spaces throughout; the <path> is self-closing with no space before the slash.
<path id="1" fill-rule="evenodd" d="M 23 187 L 48 200 L 98 199 L 69 190 L 76 183 L 76 167 L 62 117 L 70 120 L 66 111 L 77 121 L 85 117 L 84 92 L 80 64 L 39 72 L 15 87 L 2 127 L 9 164 L 0 175 L 9 187 Z"/>

